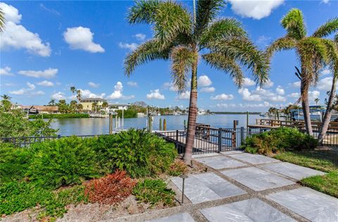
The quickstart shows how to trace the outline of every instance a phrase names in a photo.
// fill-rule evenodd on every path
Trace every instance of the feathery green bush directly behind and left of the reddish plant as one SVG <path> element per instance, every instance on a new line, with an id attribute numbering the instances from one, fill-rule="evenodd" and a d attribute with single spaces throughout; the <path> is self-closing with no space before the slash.
<path id="1" fill-rule="evenodd" d="M 79 184 L 99 176 L 94 138 L 61 138 L 32 145 L 34 156 L 27 172 L 31 181 L 44 187 Z"/>

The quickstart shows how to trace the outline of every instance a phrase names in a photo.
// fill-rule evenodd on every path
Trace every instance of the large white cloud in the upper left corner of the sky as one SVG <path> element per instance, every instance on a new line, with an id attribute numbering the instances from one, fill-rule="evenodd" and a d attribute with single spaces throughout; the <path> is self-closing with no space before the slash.
<path id="1" fill-rule="evenodd" d="M 17 8 L 0 2 L 0 8 L 4 11 L 6 24 L 5 30 L 1 33 L 0 48 L 25 48 L 28 53 L 49 56 L 51 55 L 51 48 L 49 43 L 43 43 L 39 34 L 28 31 L 20 24 L 22 15 L 19 14 Z"/>

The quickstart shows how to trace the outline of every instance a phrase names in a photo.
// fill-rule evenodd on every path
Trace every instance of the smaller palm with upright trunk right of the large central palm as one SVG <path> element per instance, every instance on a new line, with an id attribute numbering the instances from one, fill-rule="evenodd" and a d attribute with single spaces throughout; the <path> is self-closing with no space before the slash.
<path id="1" fill-rule="evenodd" d="M 269 57 L 276 51 L 295 49 L 301 63 L 299 78 L 301 79 L 301 106 L 303 108 L 306 131 L 313 135 L 310 108 L 308 105 L 308 89 L 318 81 L 319 71 L 325 64 L 337 60 L 337 46 L 334 41 L 325 39 L 338 30 L 338 18 L 328 20 L 320 26 L 311 36 L 306 36 L 306 27 L 303 14 L 293 8 L 282 18 L 282 27 L 287 34 L 277 39 L 267 49 Z M 337 35 L 336 35 L 337 38 Z M 297 70 L 298 72 L 298 70 Z"/>

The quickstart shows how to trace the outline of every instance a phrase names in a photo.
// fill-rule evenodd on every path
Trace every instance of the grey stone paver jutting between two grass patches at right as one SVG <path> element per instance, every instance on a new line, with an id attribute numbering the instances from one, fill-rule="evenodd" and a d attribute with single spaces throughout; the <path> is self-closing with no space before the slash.
<path id="1" fill-rule="evenodd" d="M 288 162 L 281 162 L 275 164 L 266 164 L 262 166 L 264 169 L 269 169 L 270 171 L 274 171 L 278 174 L 282 174 L 284 176 L 289 176 L 300 181 L 303 178 L 315 175 L 324 175 L 322 171 L 310 169 L 303 166 L 298 166 L 296 164 L 290 164 Z"/>

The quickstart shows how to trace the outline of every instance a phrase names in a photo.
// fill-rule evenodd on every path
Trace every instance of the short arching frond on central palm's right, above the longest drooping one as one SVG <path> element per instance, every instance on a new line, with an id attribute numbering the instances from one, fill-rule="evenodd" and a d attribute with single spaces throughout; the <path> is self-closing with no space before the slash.
<path id="1" fill-rule="evenodd" d="M 201 34 L 199 39 L 200 48 L 204 48 L 208 42 L 233 37 L 247 38 L 242 23 L 234 18 L 222 18 L 209 25 L 208 29 Z"/>

